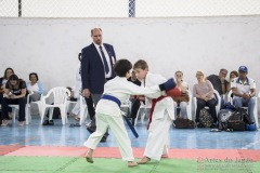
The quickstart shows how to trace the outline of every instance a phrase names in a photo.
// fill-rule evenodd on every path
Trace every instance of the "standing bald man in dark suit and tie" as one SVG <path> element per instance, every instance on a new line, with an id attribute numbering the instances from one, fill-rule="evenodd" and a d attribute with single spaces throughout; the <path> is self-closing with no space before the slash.
<path id="1" fill-rule="evenodd" d="M 98 104 L 104 92 L 105 82 L 115 77 L 113 64 L 116 62 L 116 54 L 113 45 L 102 42 L 102 35 L 101 28 L 91 29 L 93 43 L 81 51 L 82 90 L 87 104 L 89 103 L 88 106 L 92 106 L 88 99 L 90 97 L 92 97 L 94 106 Z M 87 130 L 93 133 L 95 128 L 95 117 L 93 117 Z M 106 142 L 107 136 L 108 132 L 105 133 L 101 142 Z"/>

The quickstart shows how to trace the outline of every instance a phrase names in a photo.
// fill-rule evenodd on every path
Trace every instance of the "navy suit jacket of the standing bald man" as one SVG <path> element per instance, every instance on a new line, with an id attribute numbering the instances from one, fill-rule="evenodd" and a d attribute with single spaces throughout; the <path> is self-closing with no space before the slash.
<path id="1" fill-rule="evenodd" d="M 113 45 L 103 43 L 106 49 L 107 54 L 109 55 L 110 66 L 116 62 L 116 54 Z M 81 81 L 82 90 L 89 89 L 93 94 L 102 94 L 104 91 L 105 84 L 105 71 L 102 57 L 100 56 L 94 43 L 86 46 L 81 51 Z M 112 77 L 115 77 L 115 72 L 112 72 Z"/>

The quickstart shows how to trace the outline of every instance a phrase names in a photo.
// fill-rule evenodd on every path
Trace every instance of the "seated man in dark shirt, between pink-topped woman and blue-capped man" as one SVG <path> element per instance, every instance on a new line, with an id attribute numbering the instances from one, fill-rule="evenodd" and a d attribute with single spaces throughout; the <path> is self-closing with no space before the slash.
<path id="1" fill-rule="evenodd" d="M 224 97 L 225 97 L 225 93 L 229 92 L 227 90 L 227 80 L 225 80 L 225 77 L 227 75 L 227 70 L 226 69 L 220 69 L 219 75 L 210 75 L 207 77 L 207 80 L 209 80 L 212 85 L 213 89 L 217 90 L 220 94 L 221 97 L 221 109 L 224 108 Z"/>

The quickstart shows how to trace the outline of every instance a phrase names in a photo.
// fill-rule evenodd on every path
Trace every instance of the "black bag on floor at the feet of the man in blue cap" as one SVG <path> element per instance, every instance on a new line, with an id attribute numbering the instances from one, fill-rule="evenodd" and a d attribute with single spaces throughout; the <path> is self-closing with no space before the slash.
<path id="1" fill-rule="evenodd" d="M 245 131 L 247 123 L 251 123 L 247 110 L 244 108 L 237 108 L 232 112 L 232 116 L 227 120 L 227 129 L 232 131 Z"/>

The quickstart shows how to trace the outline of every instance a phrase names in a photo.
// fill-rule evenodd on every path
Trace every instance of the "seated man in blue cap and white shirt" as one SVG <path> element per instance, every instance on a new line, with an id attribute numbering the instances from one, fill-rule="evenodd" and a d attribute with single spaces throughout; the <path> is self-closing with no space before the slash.
<path id="1" fill-rule="evenodd" d="M 256 122 L 253 108 L 256 96 L 256 82 L 253 79 L 247 77 L 248 69 L 246 66 L 238 68 L 238 77 L 231 82 L 231 90 L 233 92 L 233 104 L 235 107 L 248 106 L 248 115 L 252 122 Z"/>

